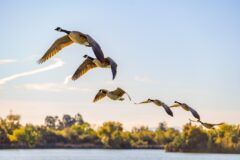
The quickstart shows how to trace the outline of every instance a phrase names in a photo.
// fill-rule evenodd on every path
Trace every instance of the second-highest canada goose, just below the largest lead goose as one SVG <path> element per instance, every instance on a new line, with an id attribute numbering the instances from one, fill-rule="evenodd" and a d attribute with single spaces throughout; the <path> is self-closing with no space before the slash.
<path id="1" fill-rule="evenodd" d="M 80 76 L 87 73 L 89 70 L 101 67 L 101 68 L 111 68 L 112 70 L 112 79 L 116 77 L 117 74 L 117 64 L 110 57 L 104 58 L 103 62 L 99 61 L 97 58 L 92 58 L 88 55 L 83 56 L 85 61 L 78 67 L 76 72 L 72 76 L 72 80 L 77 80 Z"/>

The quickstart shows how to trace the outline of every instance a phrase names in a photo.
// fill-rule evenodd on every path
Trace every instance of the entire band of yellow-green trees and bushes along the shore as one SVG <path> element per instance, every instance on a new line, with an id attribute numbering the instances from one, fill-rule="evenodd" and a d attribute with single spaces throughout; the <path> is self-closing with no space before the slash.
<path id="1" fill-rule="evenodd" d="M 0 149 L 164 149 L 167 152 L 240 153 L 240 125 L 224 124 L 207 130 L 187 123 L 182 131 L 159 123 L 125 131 L 120 122 L 97 129 L 81 114 L 46 116 L 44 125 L 22 125 L 21 116 L 0 118 Z"/>

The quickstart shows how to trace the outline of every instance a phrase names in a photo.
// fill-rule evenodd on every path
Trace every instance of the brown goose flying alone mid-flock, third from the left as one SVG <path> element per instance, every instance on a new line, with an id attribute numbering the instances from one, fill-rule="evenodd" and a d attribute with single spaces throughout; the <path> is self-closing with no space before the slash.
<path id="1" fill-rule="evenodd" d="M 117 88 L 115 89 L 114 91 L 108 91 L 106 89 L 100 89 L 97 93 L 97 95 L 95 96 L 93 102 L 97 102 L 99 101 L 100 99 L 104 98 L 104 97 L 108 97 L 112 100 L 120 100 L 120 101 L 123 101 L 124 98 L 122 98 L 122 96 L 124 94 L 127 94 L 123 89 L 121 88 Z M 131 97 L 127 94 L 129 100 L 131 101 Z"/>

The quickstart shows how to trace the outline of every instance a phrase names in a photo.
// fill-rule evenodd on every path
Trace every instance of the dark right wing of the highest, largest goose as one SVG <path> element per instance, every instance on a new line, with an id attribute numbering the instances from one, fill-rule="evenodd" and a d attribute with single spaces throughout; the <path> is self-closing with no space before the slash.
<path id="1" fill-rule="evenodd" d="M 97 59 L 100 60 L 101 62 L 103 62 L 104 55 L 103 55 L 100 45 L 90 35 L 85 34 L 85 36 L 87 37 L 88 43 L 92 47 L 92 50 L 93 50 L 95 56 L 97 57 Z"/>

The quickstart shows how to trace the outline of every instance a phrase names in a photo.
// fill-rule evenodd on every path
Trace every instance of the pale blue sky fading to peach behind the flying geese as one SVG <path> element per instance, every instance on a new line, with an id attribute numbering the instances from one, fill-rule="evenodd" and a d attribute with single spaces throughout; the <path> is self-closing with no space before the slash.
<path id="1" fill-rule="evenodd" d="M 178 100 L 198 110 L 203 121 L 239 123 L 239 7 L 233 0 L 2 0 L 0 116 L 11 109 L 23 122 L 43 123 L 46 115 L 79 112 L 92 124 L 116 120 L 126 128 L 154 127 L 160 121 L 181 126 L 191 118 L 181 109 L 171 118 L 152 105 L 108 99 L 92 103 L 98 89 L 119 86 L 135 101 L 151 97 L 171 105 Z M 77 44 L 37 64 L 64 35 L 54 31 L 57 26 L 97 40 L 105 56 L 118 63 L 116 80 L 110 70 L 96 69 L 66 81 L 84 54 L 93 55 Z"/>

